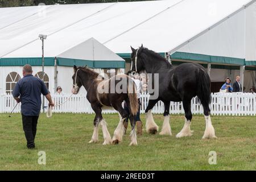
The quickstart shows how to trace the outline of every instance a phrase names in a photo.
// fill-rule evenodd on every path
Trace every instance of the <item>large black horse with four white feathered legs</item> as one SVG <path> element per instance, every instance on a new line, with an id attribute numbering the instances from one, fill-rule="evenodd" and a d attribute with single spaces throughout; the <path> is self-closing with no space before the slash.
<path id="1" fill-rule="evenodd" d="M 153 82 L 159 82 L 159 96 L 158 98 L 151 99 L 148 102 L 148 106 L 145 111 L 147 133 L 155 134 L 158 131 L 158 126 L 154 122 L 151 109 L 154 107 L 156 102 L 163 101 L 164 122 L 160 134 L 172 135 L 169 123 L 170 101 L 182 101 L 185 111 L 185 124 L 176 137 L 190 137 L 193 133 L 190 129 L 192 119 L 191 99 L 197 96 L 204 107 L 206 127 L 203 139 L 216 138 L 210 119 L 210 77 L 205 72 L 204 67 L 195 63 L 183 63 L 176 68 L 173 68 L 172 65 L 164 59 L 164 57 L 154 51 L 144 48 L 143 46 L 138 49 L 131 47 L 131 50 L 131 69 L 133 71 L 146 71 L 153 75 L 155 73 L 159 74 L 159 80 L 154 80 L 154 76 L 152 76 L 151 80 Z M 151 96 L 150 98 L 152 98 Z"/>

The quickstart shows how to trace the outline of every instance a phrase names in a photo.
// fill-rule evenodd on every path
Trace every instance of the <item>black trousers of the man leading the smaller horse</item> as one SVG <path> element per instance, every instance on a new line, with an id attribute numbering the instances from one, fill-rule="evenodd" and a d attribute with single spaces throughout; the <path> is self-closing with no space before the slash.
<path id="1" fill-rule="evenodd" d="M 27 147 L 35 147 L 35 135 L 36 135 L 36 126 L 38 125 L 39 116 L 27 116 L 22 114 L 22 125 L 27 139 Z"/>

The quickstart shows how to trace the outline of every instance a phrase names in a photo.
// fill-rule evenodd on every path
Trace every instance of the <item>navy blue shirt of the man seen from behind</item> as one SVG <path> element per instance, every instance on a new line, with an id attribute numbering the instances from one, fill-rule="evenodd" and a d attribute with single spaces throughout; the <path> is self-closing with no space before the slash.
<path id="1" fill-rule="evenodd" d="M 41 93 L 47 95 L 48 89 L 42 80 L 31 75 L 20 79 L 13 90 L 13 97 L 19 97 L 21 112 L 26 116 L 38 116 L 41 110 Z"/>

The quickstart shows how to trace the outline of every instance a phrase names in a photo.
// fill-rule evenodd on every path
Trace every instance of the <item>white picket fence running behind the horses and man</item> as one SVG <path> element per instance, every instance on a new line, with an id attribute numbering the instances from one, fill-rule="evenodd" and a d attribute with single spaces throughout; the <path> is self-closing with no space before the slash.
<path id="1" fill-rule="evenodd" d="M 61 104 L 68 100 L 70 95 L 52 95 L 55 104 Z M 141 113 L 145 112 L 148 104 L 149 95 L 141 94 Z M 46 106 L 48 102 L 46 101 Z M 13 96 L 2 94 L 0 96 L 0 113 L 10 113 L 16 105 Z M 212 104 L 210 104 L 211 114 L 213 115 L 256 115 L 256 94 L 252 93 L 214 93 L 212 94 Z M 152 113 L 162 114 L 164 111 L 163 102 L 159 101 Z M 192 99 L 191 111 L 193 114 L 203 114 L 203 106 L 197 102 L 196 98 Z M 13 113 L 20 112 L 20 104 L 15 108 Z M 90 103 L 86 95 L 73 95 L 65 104 L 56 106 L 53 109 L 55 113 L 89 113 L 94 111 L 90 107 Z M 103 110 L 103 113 L 117 113 L 114 109 Z M 183 106 L 181 102 L 171 102 L 171 114 L 183 114 Z"/>

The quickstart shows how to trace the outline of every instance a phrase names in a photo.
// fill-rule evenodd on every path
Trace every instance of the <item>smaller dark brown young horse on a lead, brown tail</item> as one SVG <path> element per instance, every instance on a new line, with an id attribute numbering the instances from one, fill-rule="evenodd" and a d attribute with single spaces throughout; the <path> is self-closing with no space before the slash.
<path id="1" fill-rule="evenodd" d="M 135 132 L 135 115 L 138 111 L 138 100 L 136 94 L 136 85 L 133 80 L 127 75 L 121 74 L 113 76 L 110 79 L 104 79 L 98 73 L 92 71 L 92 69 L 86 67 L 76 67 L 74 65 L 73 78 L 73 94 L 77 94 L 81 86 L 87 91 L 86 98 L 90 102 L 92 109 L 96 113 L 93 121 L 94 131 L 92 139 L 89 143 L 98 142 L 98 125 L 102 127 L 102 133 L 104 136 L 103 144 L 117 144 L 122 141 L 124 134 L 123 122 L 127 117 L 130 117 L 131 121 L 131 143 L 130 145 L 137 145 L 137 136 Z M 122 82 L 123 81 L 123 82 Z M 123 84 L 123 85 L 122 85 Z M 127 84 L 127 85 L 125 85 Z M 121 88 L 121 90 L 117 90 Z M 122 86 L 120 86 L 122 85 Z M 122 102 L 126 101 L 130 106 L 130 116 L 126 110 L 122 107 Z M 101 111 L 103 106 L 114 107 L 119 113 L 120 121 L 117 129 L 114 131 L 114 137 L 111 139 L 106 122 L 102 117 Z"/>

